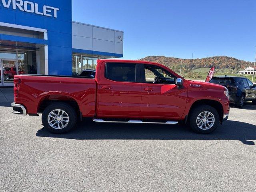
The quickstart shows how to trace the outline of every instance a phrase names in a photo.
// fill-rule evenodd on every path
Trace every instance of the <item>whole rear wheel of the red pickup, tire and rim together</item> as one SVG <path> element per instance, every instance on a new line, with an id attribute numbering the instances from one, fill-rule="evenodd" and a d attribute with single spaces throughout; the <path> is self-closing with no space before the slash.
<path id="1" fill-rule="evenodd" d="M 63 102 L 56 102 L 46 107 L 42 114 L 44 127 L 54 133 L 66 133 L 76 126 L 76 111 L 72 106 Z"/>

